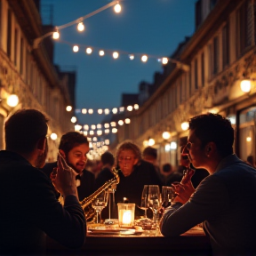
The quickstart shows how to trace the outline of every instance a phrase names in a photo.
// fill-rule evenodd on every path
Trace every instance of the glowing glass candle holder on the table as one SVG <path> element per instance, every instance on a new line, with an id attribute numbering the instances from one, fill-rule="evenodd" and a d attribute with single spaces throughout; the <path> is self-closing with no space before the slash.
<path id="1" fill-rule="evenodd" d="M 117 204 L 119 227 L 132 228 L 134 225 L 135 204 Z"/>

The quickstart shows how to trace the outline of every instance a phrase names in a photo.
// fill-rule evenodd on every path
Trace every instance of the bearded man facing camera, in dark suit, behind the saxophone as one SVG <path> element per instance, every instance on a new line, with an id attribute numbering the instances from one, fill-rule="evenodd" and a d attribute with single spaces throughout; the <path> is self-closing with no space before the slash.
<path id="1" fill-rule="evenodd" d="M 60 139 L 60 154 L 65 158 L 67 164 L 75 170 L 76 187 L 79 200 L 90 196 L 94 188 L 94 174 L 84 169 L 89 152 L 89 142 L 87 138 L 79 132 L 67 132 Z M 57 167 L 57 162 L 47 163 L 43 171 L 51 177 L 53 168 Z M 60 194 L 57 195 L 59 197 Z"/>

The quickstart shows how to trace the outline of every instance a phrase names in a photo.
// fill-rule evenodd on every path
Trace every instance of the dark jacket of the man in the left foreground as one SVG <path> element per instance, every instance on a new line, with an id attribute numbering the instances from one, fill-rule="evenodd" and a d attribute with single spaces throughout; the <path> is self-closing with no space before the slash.
<path id="1" fill-rule="evenodd" d="M 0 177 L 0 255 L 43 253 L 45 234 L 71 248 L 84 244 L 76 196 L 67 196 L 63 208 L 44 172 L 13 152 L 0 151 Z"/>

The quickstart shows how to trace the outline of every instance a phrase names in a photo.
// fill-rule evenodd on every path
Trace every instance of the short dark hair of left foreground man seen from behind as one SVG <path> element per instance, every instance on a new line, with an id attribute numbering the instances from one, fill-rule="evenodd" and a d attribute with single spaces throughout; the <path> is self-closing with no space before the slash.
<path id="1" fill-rule="evenodd" d="M 16 111 L 4 124 L 6 150 L 31 153 L 38 140 L 47 135 L 47 122 L 39 110 L 23 108 Z"/>

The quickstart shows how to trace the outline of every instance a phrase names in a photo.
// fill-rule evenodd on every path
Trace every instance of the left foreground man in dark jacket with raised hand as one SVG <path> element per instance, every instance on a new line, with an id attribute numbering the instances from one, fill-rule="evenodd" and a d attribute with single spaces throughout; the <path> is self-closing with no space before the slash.
<path id="1" fill-rule="evenodd" d="M 52 180 L 42 168 L 47 156 L 48 120 L 36 109 L 21 109 L 4 125 L 6 150 L 0 151 L 0 254 L 39 255 L 45 235 L 70 248 L 84 244 L 86 222 L 78 202 L 76 172 L 59 168 Z"/>

